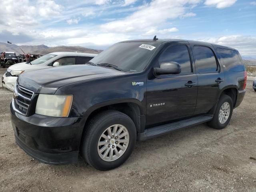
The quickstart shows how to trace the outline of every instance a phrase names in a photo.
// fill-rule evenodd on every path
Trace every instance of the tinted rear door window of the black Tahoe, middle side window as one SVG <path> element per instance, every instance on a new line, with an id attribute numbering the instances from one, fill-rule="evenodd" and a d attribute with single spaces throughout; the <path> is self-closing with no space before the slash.
<path id="1" fill-rule="evenodd" d="M 199 73 L 214 73 L 218 65 L 212 50 L 205 46 L 194 46 L 194 58 Z"/>

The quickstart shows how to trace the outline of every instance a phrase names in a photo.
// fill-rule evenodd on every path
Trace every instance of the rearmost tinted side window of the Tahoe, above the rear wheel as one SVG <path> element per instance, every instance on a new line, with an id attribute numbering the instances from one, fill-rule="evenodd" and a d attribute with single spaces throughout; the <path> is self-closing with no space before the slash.
<path id="1" fill-rule="evenodd" d="M 217 53 L 226 71 L 244 71 L 244 64 L 235 50 L 217 48 Z"/>

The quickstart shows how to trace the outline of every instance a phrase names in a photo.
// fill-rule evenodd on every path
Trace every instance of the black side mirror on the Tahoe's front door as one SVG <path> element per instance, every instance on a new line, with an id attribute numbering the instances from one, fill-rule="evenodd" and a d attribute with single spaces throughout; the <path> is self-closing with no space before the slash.
<path id="1" fill-rule="evenodd" d="M 180 64 L 177 62 L 162 62 L 160 68 L 154 68 L 157 75 L 180 74 Z"/>

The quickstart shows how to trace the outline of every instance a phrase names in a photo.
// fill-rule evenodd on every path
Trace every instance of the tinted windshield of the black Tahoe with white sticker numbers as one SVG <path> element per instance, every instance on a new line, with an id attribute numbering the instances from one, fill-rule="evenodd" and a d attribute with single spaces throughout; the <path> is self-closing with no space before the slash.
<path id="1" fill-rule="evenodd" d="M 112 45 L 90 62 L 111 64 L 126 71 L 140 72 L 148 64 L 160 44 L 155 42 L 124 42 Z"/>

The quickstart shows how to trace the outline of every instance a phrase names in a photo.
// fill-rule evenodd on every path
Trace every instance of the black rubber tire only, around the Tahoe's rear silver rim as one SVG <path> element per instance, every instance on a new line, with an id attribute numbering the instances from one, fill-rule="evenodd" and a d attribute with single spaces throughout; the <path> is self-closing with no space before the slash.
<path id="1" fill-rule="evenodd" d="M 224 104 L 225 102 L 228 102 L 229 105 L 230 105 L 230 114 L 229 114 L 228 119 L 226 120 L 226 122 L 221 124 L 220 121 L 219 121 L 219 112 L 220 112 L 220 108 L 221 108 L 222 104 Z M 215 112 L 215 115 L 214 115 L 215 122 L 216 122 L 219 129 L 223 129 L 228 125 L 228 123 L 230 122 L 230 118 L 232 117 L 232 113 L 233 113 L 233 101 L 232 101 L 232 99 L 230 98 L 230 96 L 226 96 L 226 95 L 222 96 L 222 98 L 220 98 L 220 101 L 218 103 L 218 106 L 216 108 L 216 112 Z"/>

